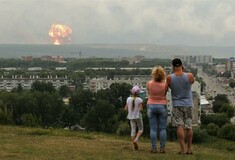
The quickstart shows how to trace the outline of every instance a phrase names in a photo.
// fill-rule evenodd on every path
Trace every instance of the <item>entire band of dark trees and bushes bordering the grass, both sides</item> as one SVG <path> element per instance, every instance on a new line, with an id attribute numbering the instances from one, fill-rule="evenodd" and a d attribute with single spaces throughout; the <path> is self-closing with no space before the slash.
<path id="1" fill-rule="evenodd" d="M 124 105 L 131 85 L 114 83 L 109 89 L 93 93 L 89 90 L 71 92 L 67 86 L 55 90 L 51 83 L 35 82 L 31 90 L 20 86 L 12 92 L 0 92 L 0 124 L 30 127 L 64 128 L 78 124 L 87 131 L 129 135 L 130 126 Z M 69 103 L 63 97 L 70 97 Z M 214 114 L 201 116 L 201 125 L 194 129 L 194 143 L 207 142 L 210 137 L 235 141 L 235 125 L 230 123 L 234 107 L 226 95 L 217 95 Z M 149 136 L 146 99 L 143 111 L 144 135 Z M 176 128 L 169 124 L 167 134 L 176 140 Z"/>

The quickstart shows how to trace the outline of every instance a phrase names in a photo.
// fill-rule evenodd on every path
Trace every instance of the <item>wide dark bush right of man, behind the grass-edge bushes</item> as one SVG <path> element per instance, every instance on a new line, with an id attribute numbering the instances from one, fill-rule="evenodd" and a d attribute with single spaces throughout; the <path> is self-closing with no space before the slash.
<path id="1" fill-rule="evenodd" d="M 222 127 L 224 124 L 229 123 L 230 119 L 225 113 L 215 113 L 215 114 L 202 114 L 201 123 L 202 125 L 208 125 L 214 123 L 219 127 Z"/>

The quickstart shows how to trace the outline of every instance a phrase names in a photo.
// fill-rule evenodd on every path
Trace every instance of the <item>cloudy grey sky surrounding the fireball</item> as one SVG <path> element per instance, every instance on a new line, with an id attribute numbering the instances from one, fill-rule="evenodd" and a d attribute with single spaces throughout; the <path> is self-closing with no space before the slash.
<path id="1" fill-rule="evenodd" d="M 52 24 L 71 44 L 235 46 L 235 0 L 0 0 L 0 44 L 51 44 Z"/>

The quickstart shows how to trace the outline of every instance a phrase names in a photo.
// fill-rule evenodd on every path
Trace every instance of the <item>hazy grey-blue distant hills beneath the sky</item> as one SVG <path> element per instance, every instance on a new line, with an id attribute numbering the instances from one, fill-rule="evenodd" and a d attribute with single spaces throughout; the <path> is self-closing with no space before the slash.
<path id="1" fill-rule="evenodd" d="M 93 43 L 93 44 L 0 44 L 0 58 L 22 56 L 61 55 L 65 58 L 118 58 L 137 55 L 146 58 L 167 58 L 172 55 L 211 55 L 213 58 L 230 58 L 235 46 L 186 46 L 147 43 Z"/>

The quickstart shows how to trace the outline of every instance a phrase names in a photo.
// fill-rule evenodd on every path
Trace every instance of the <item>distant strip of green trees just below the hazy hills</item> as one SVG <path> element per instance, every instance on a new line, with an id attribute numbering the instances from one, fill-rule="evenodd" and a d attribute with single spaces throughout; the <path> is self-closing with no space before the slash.
<path id="1" fill-rule="evenodd" d="M 0 59 L 0 68 L 16 67 L 27 69 L 29 67 L 42 67 L 54 70 L 55 67 L 66 67 L 68 70 L 79 70 L 91 67 L 153 67 L 156 64 L 169 66 L 170 59 L 145 59 L 138 63 L 129 64 L 128 61 L 114 61 L 111 58 L 86 58 L 86 59 L 65 59 L 67 63 L 58 63 L 52 61 L 42 61 L 40 58 L 34 58 L 32 61 L 22 61 L 20 59 Z"/>

